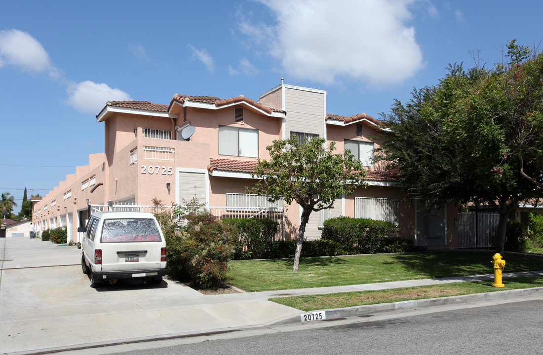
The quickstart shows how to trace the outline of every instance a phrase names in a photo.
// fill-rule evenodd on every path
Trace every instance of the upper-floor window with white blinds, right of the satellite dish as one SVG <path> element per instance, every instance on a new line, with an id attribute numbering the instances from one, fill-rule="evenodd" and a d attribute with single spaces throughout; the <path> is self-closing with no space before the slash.
<path id="1" fill-rule="evenodd" d="M 219 126 L 219 154 L 258 158 L 258 130 Z"/>

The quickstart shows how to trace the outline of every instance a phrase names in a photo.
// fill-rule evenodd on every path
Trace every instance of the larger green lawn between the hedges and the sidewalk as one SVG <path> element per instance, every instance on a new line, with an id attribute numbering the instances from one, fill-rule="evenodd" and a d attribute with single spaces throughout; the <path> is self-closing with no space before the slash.
<path id="1" fill-rule="evenodd" d="M 300 259 L 236 260 L 229 263 L 230 285 L 247 292 L 358 285 L 494 273 L 494 251 L 434 251 Z M 505 254 L 504 272 L 543 270 L 543 257 Z"/>

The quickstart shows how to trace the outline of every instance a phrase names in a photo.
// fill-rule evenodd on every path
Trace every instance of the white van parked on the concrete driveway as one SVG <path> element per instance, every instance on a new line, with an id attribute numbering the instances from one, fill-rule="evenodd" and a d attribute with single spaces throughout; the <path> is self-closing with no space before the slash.
<path id="1" fill-rule="evenodd" d="M 81 268 L 91 287 L 143 277 L 162 282 L 166 241 L 155 216 L 144 212 L 94 212 L 81 243 Z"/>

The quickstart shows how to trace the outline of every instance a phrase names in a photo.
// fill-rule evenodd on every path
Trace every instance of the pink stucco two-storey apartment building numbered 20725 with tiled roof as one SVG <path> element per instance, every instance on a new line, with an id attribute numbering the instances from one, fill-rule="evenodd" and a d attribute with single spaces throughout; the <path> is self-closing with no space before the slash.
<path id="1" fill-rule="evenodd" d="M 68 229 L 77 242 L 77 228 L 88 218 L 89 205 L 182 204 L 193 197 L 212 210 L 235 211 L 271 206 L 282 216 L 282 236 L 296 236 L 300 207 L 248 195 L 257 159 L 269 158 L 266 146 L 292 134 L 336 141 L 338 152 L 350 149 L 363 162 L 369 186 L 341 196 L 332 210 L 314 212 L 306 228 L 308 240 L 320 237 L 324 220 L 352 216 L 387 220 L 416 246 L 454 247 L 457 210 L 451 206 L 420 210 L 406 201 L 394 173 L 373 163 L 385 128 L 364 113 L 326 113 L 326 91 L 286 85 L 260 95 L 220 99 L 175 94 L 168 105 L 148 101 L 110 101 L 96 116 L 104 125 L 104 153 L 91 154 L 45 197 L 34 203 L 38 230 Z M 183 138 L 185 137 L 185 138 Z M 218 212 L 220 215 L 221 212 Z M 223 214 L 224 215 L 224 214 Z"/>

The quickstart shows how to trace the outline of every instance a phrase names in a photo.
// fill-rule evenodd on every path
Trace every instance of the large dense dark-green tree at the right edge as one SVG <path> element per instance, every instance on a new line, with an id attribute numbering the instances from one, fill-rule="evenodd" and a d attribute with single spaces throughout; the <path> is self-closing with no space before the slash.
<path id="1" fill-rule="evenodd" d="M 510 41 L 506 57 L 451 65 L 439 85 L 396 101 L 378 150 L 412 197 L 492 206 L 500 253 L 510 212 L 543 196 L 543 55 Z"/>

